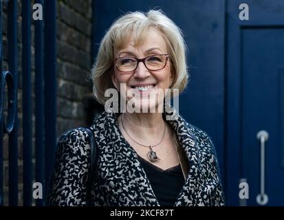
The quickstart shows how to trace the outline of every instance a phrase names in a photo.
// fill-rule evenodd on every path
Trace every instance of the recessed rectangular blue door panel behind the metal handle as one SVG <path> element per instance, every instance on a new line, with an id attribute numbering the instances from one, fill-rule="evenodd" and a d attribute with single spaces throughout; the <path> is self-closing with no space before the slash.
<path id="1" fill-rule="evenodd" d="M 260 193 L 261 147 L 256 133 L 265 130 L 265 193 L 267 205 L 284 205 L 284 170 L 280 166 L 279 127 L 281 91 L 279 75 L 284 67 L 284 28 L 248 28 L 242 31 L 243 63 L 241 85 L 242 170 L 250 186 L 248 205 L 258 205 Z"/>

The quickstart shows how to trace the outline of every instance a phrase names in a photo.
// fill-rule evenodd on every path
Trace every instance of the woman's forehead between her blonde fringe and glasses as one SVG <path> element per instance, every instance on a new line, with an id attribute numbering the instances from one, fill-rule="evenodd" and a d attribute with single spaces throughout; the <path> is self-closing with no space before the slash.
<path id="1" fill-rule="evenodd" d="M 139 34 L 129 33 L 127 37 L 124 37 L 123 41 L 114 46 L 115 54 L 121 52 L 149 52 L 151 49 L 160 50 L 160 52 L 167 53 L 167 45 L 164 40 L 164 34 L 154 28 L 149 28 Z"/>

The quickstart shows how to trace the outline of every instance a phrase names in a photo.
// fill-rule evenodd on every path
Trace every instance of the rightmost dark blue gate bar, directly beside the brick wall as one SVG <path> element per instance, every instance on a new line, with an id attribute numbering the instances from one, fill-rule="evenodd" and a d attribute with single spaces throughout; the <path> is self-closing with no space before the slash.
<path id="1" fill-rule="evenodd" d="M 56 1 L 44 1 L 45 190 L 56 151 Z"/>

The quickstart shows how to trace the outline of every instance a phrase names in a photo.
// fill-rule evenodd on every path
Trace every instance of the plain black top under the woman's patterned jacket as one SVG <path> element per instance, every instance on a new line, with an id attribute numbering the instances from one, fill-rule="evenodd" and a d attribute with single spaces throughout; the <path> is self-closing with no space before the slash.
<path id="1" fill-rule="evenodd" d="M 162 170 L 138 156 L 161 206 L 173 206 L 184 186 L 184 175 L 180 165 Z"/>

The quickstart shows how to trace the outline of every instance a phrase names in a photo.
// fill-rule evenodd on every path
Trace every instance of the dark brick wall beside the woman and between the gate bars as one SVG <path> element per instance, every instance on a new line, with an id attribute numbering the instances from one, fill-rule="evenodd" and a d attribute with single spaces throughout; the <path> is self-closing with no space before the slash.
<path id="1" fill-rule="evenodd" d="M 91 96 L 91 83 L 87 76 L 91 67 L 91 1 L 56 1 L 56 82 L 57 82 L 57 123 L 59 137 L 65 131 L 77 126 L 86 126 L 87 97 Z M 8 70 L 7 52 L 7 2 L 3 1 L 3 71 Z M 32 1 L 31 5 L 34 1 Z M 18 56 L 19 56 L 19 206 L 23 203 L 22 177 L 22 76 L 21 76 L 21 1 L 18 0 Z M 32 122 L 34 149 L 34 21 L 32 21 Z M 4 205 L 8 205 L 8 135 L 4 143 Z M 34 155 L 33 150 L 33 155 Z M 34 164 L 34 160 L 33 160 Z M 34 172 L 34 170 L 33 170 Z"/>

